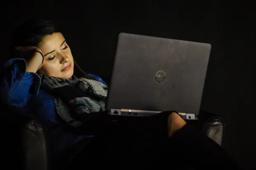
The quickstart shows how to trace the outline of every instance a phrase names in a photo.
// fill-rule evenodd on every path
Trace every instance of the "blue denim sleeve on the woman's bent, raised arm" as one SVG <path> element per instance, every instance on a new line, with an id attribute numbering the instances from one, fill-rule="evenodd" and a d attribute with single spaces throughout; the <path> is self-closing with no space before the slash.
<path id="1" fill-rule="evenodd" d="M 5 74 L 0 79 L 0 101 L 7 105 L 23 107 L 30 95 L 38 94 L 40 77 L 26 72 L 26 61 L 14 58 L 5 63 Z"/>

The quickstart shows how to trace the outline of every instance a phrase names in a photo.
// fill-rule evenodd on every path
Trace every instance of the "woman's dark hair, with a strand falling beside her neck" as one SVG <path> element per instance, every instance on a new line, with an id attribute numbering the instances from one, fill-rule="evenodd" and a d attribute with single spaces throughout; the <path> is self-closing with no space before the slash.
<path id="1" fill-rule="evenodd" d="M 46 35 L 61 33 L 61 29 L 51 21 L 44 19 L 30 19 L 23 23 L 19 28 L 14 30 L 13 42 L 11 47 L 11 56 L 14 56 L 14 47 L 17 46 L 36 46 L 43 40 Z M 74 59 L 74 75 L 87 79 L 96 80 L 85 73 Z"/>

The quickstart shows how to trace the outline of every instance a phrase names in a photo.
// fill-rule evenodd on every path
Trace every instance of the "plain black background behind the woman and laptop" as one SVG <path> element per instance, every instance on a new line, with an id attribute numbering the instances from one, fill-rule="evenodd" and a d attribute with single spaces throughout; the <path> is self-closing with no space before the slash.
<path id="1" fill-rule="evenodd" d="M 12 30 L 37 16 L 62 26 L 83 70 L 106 82 L 120 32 L 210 43 L 201 109 L 224 119 L 224 149 L 252 169 L 256 167 L 254 11 L 254 5 L 244 1 L 9 1 L 7 20 L 2 21 L 7 33 L 1 64 L 9 57 Z"/>

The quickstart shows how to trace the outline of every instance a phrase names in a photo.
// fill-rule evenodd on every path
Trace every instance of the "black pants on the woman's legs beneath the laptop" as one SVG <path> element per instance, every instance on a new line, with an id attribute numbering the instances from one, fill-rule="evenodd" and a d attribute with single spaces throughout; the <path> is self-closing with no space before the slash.
<path id="1" fill-rule="evenodd" d="M 222 147 L 190 124 L 169 138 L 164 119 L 106 129 L 66 169 L 239 169 Z"/>

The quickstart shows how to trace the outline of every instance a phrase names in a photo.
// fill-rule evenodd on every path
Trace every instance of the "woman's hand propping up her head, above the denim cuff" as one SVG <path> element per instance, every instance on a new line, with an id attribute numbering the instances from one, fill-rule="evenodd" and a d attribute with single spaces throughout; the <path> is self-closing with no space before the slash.
<path id="1" fill-rule="evenodd" d="M 43 66 L 42 51 L 38 47 L 15 47 L 16 56 L 26 61 L 26 72 L 37 72 Z M 37 52 L 39 51 L 39 52 Z"/>

